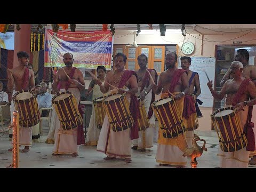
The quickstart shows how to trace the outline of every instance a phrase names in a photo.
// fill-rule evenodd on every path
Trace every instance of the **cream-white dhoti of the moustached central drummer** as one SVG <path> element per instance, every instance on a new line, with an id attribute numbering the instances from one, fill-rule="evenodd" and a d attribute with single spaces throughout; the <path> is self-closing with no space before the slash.
<path id="1" fill-rule="evenodd" d="M 128 100 L 129 95 L 126 95 Z M 130 100 L 130 97 L 129 97 Z M 128 100 L 128 101 L 129 101 Z M 110 128 L 107 114 L 103 120 L 97 151 L 109 157 L 131 158 L 131 129 L 114 132 Z"/>

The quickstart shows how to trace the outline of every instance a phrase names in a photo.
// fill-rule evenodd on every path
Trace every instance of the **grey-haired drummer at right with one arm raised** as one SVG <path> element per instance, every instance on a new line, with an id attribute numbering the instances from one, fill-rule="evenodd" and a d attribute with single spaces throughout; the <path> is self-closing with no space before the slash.
<path id="1" fill-rule="evenodd" d="M 225 82 L 220 93 L 212 89 L 212 81 L 208 82 L 207 85 L 212 96 L 216 99 L 221 100 L 227 94 L 226 106 L 234 106 L 234 103 L 237 103 L 235 107 L 239 107 L 239 109 L 243 108 L 244 111 L 239 111 L 239 118 L 241 120 L 242 129 L 244 129 L 249 113 L 249 106 L 256 104 L 256 87 L 250 78 L 242 77 L 242 73 L 242 62 L 233 61 L 230 66 L 230 75 L 232 75 L 233 79 L 229 79 Z M 250 97 L 252 99 L 249 101 Z M 234 152 L 223 152 L 219 147 L 218 156 L 221 157 L 220 166 L 246 168 L 249 154 L 250 151 L 247 151 L 246 147 Z"/>

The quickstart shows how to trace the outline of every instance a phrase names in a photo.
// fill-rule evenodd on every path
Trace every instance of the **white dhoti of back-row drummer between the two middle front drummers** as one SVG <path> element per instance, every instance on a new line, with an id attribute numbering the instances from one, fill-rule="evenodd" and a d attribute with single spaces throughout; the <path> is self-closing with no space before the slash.
<path id="1" fill-rule="evenodd" d="M 140 91 L 138 93 L 140 93 Z M 146 114 L 148 114 L 149 108 L 151 107 L 150 106 L 151 98 L 152 98 L 152 90 L 146 95 L 144 99 Z M 154 129 L 155 129 L 155 115 L 153 113 L 153 115 L 149 119 L 149 127 L 146 130 L 139 131 L 139 138 L 134 139 L 132 141 L 132 144 L 134 146 L 138 146 L 137 149 L 141 149 L 141 148 L 146 149 L 146 148 L 153 147 Z"/>

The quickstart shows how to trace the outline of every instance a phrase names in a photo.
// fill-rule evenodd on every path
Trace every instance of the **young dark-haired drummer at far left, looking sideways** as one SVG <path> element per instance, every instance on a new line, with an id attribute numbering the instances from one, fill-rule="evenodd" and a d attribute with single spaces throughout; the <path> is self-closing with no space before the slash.
<path id="1" fill-rule="evenodd" d="M 24 51 L 17 53 L 19 66 L 13 68 L 11 71 L 7 69 L 8 83 L 7 87 L 9 90 L 13 90 L 12 95 L 18 91 L 28 91 L 35 89 L 35 76 L 34 71 L 28 69 L 29 55 Z M 15 110 L 14 103 L 11 104 L 11 121 L 13 121 L 13 111 Z M 12 129 L 9 132 L 12 134 Z M 20 145 L 25 146 L 21 150 L 22 153 L 27 153 L 29 151 L 29 146 L 32 145 L 32 127 L 21 127 L 20 126 Z M 12 148 L 9 149 L 12 151 Z"/>

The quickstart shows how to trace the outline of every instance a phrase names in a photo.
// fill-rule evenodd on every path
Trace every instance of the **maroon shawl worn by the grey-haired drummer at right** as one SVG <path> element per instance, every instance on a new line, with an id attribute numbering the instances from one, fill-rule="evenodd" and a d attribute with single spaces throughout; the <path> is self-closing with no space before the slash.
<path id="1" fill-rule="evenodd" d="M 252 80 L 249 79 L 249 78 L 245 78 L 242 81 L 241 85 L 239 86 L 239 89 L 237 90 L 235 98 L 233 100 L 235 103 L 239 103 L 239 99 L 242 97 L 242 95 L 246 91 L 250 81 L 252 81 Z M 234 103 L 232 105 L 235 106 Z M 249 106 L 247 120 L 246 120 L 246 123 L 244 125 L 244 133 L 245 133 L 245 136 L 248 140 L 247 147 L 246 147 L 247 151 L 254 151 L 255 150 L 255 138 L 254 138 L 254 133 L 253 133 L 253 130 L 252 130 L 252 127 L 254 127 L 254 123 L 251 122 L 251 120 L 252 120 L 252 107 L 253 106 Z"/>

